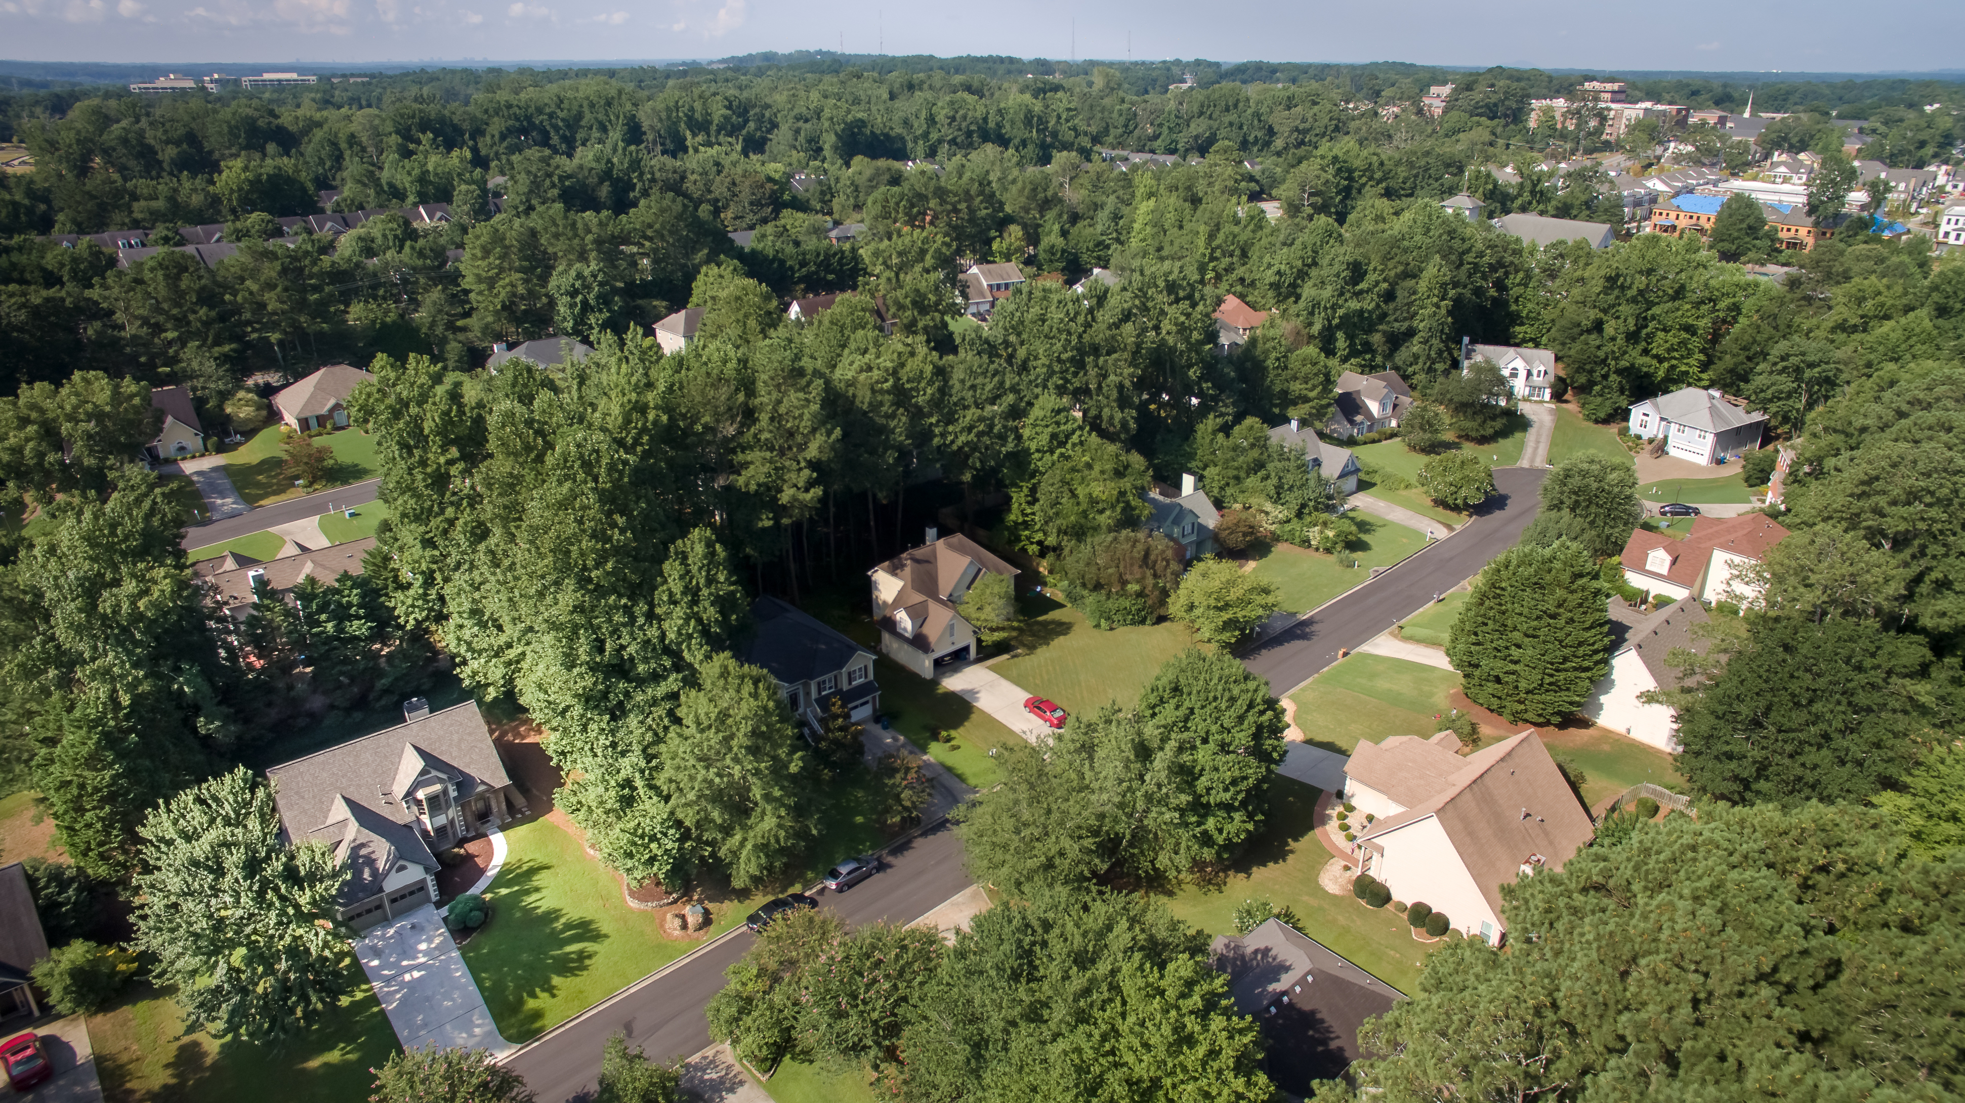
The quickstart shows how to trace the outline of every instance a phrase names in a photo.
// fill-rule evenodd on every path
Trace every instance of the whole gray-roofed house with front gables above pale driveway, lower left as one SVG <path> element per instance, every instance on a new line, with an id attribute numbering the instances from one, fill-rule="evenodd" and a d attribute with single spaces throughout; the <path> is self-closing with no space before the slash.
<path id="1" fill-rule="evenodd" d="M 326 844 L 348 879 L 338 917 L 365 930 L 436 903 L 436 852 L 523 814 L 477 703 L 409 722 L 265 771 L 285 842 Z"/>

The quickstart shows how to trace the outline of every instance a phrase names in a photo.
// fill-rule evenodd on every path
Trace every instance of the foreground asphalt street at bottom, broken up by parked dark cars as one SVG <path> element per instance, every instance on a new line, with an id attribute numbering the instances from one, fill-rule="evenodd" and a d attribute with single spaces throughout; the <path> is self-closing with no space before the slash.
<path id="1" fill-rule="evenodd" d="M 819 907 L 847 922 L 914 922 L 969 887 L 963 848 L 943 822 L 886 854 L 886 866 L 845 893 L 819 891 Z M 625 1032 L 650 1058 L 686 1058 L 709 1046 L 703 1007 L 723 989 L 723 970 L 745 956 L 755 938 L 737 932 L 707 946 L 670 972 L 615 993 L 570 1023 L 548 1030 L 505 1058 L 538 1093 L 538 1103 L 591 1099 L 601 1046 Z"/>

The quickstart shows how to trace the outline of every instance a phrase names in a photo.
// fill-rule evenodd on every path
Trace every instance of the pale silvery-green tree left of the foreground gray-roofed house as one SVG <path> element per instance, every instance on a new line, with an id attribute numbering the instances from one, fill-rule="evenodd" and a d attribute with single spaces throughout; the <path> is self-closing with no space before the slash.
<path id="1" fill-rule="evenodd" d="M 273 795 L 244 767 L 159 805 L 141 834 L 136 944 L 195 1028 L 289 1038 L 354 989 L 336 919 L 348 869 L 318 842 L 287 846 Z"/>

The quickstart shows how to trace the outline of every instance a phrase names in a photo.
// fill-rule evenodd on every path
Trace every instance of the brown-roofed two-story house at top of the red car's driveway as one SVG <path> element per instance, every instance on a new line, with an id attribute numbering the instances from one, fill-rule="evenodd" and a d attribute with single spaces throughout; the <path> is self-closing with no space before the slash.
<path id="1" fill-rule="evenodd" d="M 961 612 L 963 595 L 982 573 L 1016 577 L 1016 567 L 963 534 L 894 555 L 867 571 L 880 652 L 922 677 L 935 667 L 977 657 L 977 630 Z"/>

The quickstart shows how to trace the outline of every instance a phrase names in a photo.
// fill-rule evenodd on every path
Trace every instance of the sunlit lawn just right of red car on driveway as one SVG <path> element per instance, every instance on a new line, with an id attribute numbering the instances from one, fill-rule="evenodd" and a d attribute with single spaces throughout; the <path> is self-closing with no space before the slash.
<path id="1" fill-rule="evenodd" d="M 1108 701 L 1132 705 L 1161 663 L 1195 646 L 1195 634 L 1171 620 L 1100 632 L 1061 601 L 1030 599 L 1018 634 L 1026 654 L 990 669 L 1067 712 L 1091 712 Z"/>

